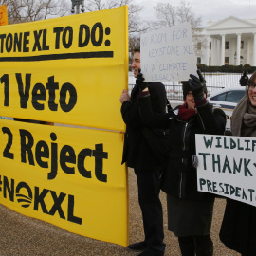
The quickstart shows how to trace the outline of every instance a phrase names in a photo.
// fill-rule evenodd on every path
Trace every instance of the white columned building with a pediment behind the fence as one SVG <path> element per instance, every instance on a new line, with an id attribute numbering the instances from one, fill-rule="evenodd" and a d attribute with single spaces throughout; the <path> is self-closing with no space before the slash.
<path id="1" fill-rule="evenodd" d="M 197 44 L 198 64 L 256 66 L 256 20 L 230 16 L 210 21 L 205 34 L 205 46 Z"/>

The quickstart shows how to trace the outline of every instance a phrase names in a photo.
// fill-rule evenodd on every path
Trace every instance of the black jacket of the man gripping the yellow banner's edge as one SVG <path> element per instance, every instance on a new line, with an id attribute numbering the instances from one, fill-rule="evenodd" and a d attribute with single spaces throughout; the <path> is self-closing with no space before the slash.
<path id="1" fill-rule="evenodd" d="M 166 112 L 166 91 L 161 82 L 149 82 L 153 113 Z M 160 164 L 149 146 L 147 135 L 142 133 L 145 125 L 142 124 L 139 114 L 137 85 L 132 90 L 131 101 L 124 101 L 121 106 L 122 119 L 126 124 L 122 163 L 137 170 L 155 170 Z"/>

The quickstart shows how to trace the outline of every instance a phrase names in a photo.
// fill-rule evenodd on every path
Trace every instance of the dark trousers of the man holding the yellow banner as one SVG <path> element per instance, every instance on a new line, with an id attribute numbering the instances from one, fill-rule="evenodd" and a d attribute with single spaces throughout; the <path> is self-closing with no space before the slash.
<path id="1" fill-rule="evenodd" d="M 142 211 L 147 250 L 164 251 L 159 172 L 135 169 L 135 174 L 137 175 L 138 202 Z"/>

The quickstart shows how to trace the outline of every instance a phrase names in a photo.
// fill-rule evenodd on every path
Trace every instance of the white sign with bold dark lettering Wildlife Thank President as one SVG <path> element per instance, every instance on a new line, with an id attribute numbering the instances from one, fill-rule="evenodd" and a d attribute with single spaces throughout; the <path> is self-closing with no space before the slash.
<path id="1" fill-rule="evenodd" d="M 195 135 L 197 189 L 256 206 L 256 137 Z"/>

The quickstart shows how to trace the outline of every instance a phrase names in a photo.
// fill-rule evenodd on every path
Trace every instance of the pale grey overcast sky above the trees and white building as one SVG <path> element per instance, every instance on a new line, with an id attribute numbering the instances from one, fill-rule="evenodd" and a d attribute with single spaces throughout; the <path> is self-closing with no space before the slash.
<path id="1" fill-rule="evenodd" d="M 156 20 L 154 6 L 158 2 L 179 5 L 180 0 L 137 0 L 143 7 L 141 19 Z M 202 17 L 202 26 L 206 27 L 209 20 L 219 21 L 229 16 L 240 19 L 256 19 L 256 0 L 187 0 L 192 12 Z"/>

